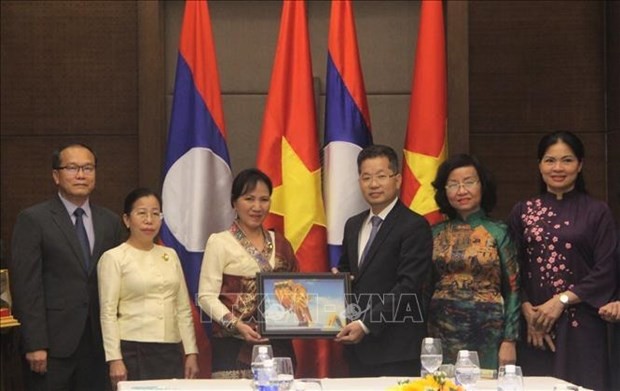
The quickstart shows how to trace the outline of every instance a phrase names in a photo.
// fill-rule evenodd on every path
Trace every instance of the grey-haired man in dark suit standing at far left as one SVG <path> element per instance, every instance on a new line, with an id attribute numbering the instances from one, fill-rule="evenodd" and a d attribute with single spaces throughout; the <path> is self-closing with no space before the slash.
<path id="1" fill-rule="evenodd" d="M 97 261 L 123 230 L 113 212 L 89 203 L 96 167 L 86 145 L 57 149 L 58 195 L 17 217 L 10 273 L 29 390 L 104 390 L 109 382 Z"/>

